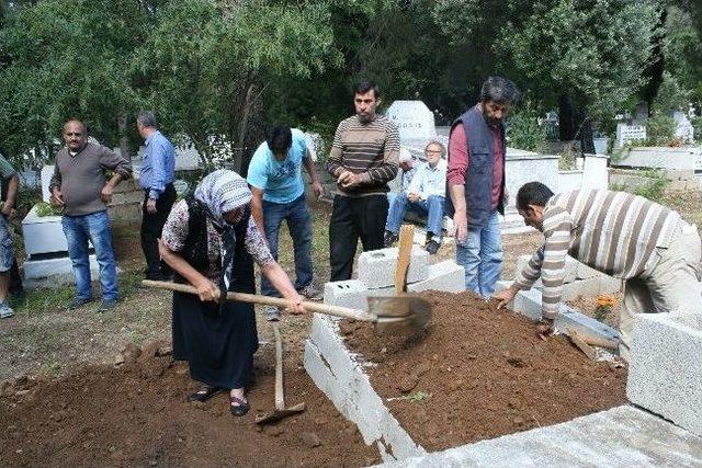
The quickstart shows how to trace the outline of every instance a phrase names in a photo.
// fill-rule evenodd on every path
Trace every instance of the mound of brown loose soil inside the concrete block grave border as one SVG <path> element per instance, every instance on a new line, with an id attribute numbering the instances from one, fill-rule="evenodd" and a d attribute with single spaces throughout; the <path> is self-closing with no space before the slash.
<path id="1" fill-rule="evenodd" d="M 367 369 L 373 387 L 426 449 L 551 425 L 626 402 L 626 369 L 590 362 L 567 338 L 540 340 L 528 318 L 497 310 L 495 303 L 472 293 L 422 297 L 433 305 L 423 333 L 376 336 L 366 323 L 350 321 L 340 329 L 351 350 L 377 364 Z"/>

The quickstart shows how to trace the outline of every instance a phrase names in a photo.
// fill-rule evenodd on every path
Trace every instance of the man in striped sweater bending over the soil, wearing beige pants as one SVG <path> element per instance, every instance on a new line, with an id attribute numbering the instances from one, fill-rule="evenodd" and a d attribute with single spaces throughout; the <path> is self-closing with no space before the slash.
<path id="1" fill-rule="evenodd" d="M 620 317 L 620 354 L 629 361 L 635 313 L 702 310 L 700 236 L 677 212 L 623 192 L 581 190 L 554 195 L 540 182 L 523 185 L 517 209 L 544 233 L 514 283 L 495 297 L 500 307 L 541 276 L 547 335 L 558 312 L 566 254 L 625 279 Z"/>

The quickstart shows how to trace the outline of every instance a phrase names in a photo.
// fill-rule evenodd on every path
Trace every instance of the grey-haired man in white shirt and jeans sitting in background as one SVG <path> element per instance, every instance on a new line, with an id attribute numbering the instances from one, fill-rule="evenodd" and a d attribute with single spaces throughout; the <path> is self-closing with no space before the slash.
<path id="1" fill-rule="evenodd" d="M 407 191 L 393 198 L 385 225 L 385 246 L 397 241 L 405 213 L 408 209 L 428 215 L 427 244 L 430 254 L 437 253 L 441 246 L 441 221 L 446 194 L 446 161 L 444 146 L 439 141 L 430 141 L 424 147 L 427 162 L 417 169 Z"/>

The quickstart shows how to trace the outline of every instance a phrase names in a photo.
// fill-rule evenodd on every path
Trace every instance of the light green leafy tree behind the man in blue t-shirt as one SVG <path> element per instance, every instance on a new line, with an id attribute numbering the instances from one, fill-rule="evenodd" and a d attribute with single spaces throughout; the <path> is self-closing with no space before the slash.
<path id="1" fill-rule="evenodd" d="M 315 2 L 172 2 L 135 61 L 144 100 L 192 140 L 203 162 L 231 155 L 240 170 L 240 156 L 260 136 L 254 124 L 269 88 L 299 85 L 338 64 L 329 20 L 327 5 Z"/>

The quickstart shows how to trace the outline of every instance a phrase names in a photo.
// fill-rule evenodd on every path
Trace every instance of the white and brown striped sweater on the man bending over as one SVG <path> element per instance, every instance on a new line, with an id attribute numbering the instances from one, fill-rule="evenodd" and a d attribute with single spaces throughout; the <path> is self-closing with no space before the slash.
<path id="1" fill-rule="evenodd" d="M 566 254 L 623 279 L 639 275 L 656 247 L 670 246 L 677 212 L 623 192 L 584 190 L 554 195 L 544 209 L 545 241 L 514 286 L 529 289 L 541 276 L 542 313 L 555 318 Z"/>

